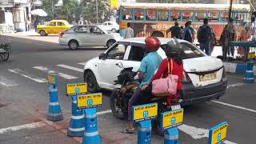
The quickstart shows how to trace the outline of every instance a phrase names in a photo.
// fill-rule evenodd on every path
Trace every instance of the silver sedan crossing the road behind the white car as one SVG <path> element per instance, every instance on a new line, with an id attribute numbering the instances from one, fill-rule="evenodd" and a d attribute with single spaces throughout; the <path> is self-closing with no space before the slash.
<path id="1" fill-rule="evenodd" d="M 108 34 L 98 26 L 73 26 L 59 34 L 60 45 L 69 46 L 70 50 L 77 50 L 79 46 L 112 46 L 121 40 L 118 33 Z"/>

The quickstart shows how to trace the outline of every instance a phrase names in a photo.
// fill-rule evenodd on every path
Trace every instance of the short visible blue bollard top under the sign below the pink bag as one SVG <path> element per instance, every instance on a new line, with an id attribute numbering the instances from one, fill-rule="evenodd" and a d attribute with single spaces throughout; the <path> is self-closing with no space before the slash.
<path id="1" fill-rule="evenodd" d="M 167 129 L 164 138 L 164 144 L 178 144 L 178 128 Z"/>

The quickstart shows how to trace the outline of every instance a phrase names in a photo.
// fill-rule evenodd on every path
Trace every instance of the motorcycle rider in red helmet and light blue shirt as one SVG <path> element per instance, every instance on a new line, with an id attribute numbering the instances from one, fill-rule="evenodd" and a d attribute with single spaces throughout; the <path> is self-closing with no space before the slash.
<path id="1" fill-rule="evenodd" d="M 128 127 L 122 130 L 122 133 L 133 134 L 134 133 L 134 125 L 132 123 L 132 115 L 131 110 L 132 106 L 142 104 L 140 101 L 142 99 L 147 98 L 139 98 L 144 97 L 146 93 L 150 93 L 149 84 L 151 79 L 154 76 L 155 70 L 158 69 L 160 63 L 162 62 L 162 58 L 158 55 L 157 50 L 159 49 L 161 43 L 158 38 L 148 37 L 145 39 L 146 43 L 146 56 L 142 59 L 141 65 L 138 69 L 138 78 L 142 80 L 141 84 L 138 87 L 138 90 L 133 94 L 128 102 Z"/>

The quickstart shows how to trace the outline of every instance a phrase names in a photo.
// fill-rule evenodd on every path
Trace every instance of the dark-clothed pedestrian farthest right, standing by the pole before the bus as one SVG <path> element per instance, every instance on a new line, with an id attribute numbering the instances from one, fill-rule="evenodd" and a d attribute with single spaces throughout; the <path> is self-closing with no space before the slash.
<path id="1" fill-rule="evenodd" d="M 234 20 L 230 18 L 228 24 L 224 27 L 220 38 L 220 44 L 222 45 L 222 56 L 226 60 L 227 55 L 234 58 L 234 46 L 229 46 L 231 41 L 235 39 Z"/>

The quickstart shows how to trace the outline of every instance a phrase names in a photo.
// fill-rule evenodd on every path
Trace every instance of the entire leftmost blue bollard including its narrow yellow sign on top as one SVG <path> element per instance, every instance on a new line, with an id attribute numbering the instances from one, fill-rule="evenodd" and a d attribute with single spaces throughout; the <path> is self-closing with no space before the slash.
<path id="1" fill-rule="evenodd" d="M 58 104 L 58 89 L 57 89 L 57 74 L 54 71 L 50 71 L 48 74 L 49 96 L 50 102 L 48 106 L 49 121 L 61 121 L 63 119 L 61 106 Z"/>

